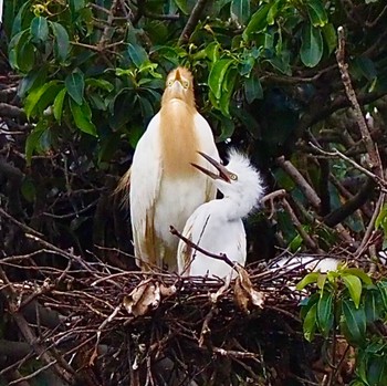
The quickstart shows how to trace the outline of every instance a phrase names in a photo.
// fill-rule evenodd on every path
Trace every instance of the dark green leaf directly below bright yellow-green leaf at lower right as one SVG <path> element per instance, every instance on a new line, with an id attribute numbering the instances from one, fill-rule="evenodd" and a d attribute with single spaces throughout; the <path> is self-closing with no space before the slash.
<path id="1" fill-rule="evenodd" d="M 344 334 L 349 342 L 362 343 L 366 334 L 366 314 L 363 307 L 355 307 L 354 302 L 343 300 Z"/>

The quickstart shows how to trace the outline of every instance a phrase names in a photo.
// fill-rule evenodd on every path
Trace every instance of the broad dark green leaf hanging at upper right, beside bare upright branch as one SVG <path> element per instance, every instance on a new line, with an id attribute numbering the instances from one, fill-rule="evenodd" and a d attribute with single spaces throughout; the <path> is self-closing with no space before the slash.
<path id="1" fill-rule="evenodd" d="M 304 24 L 301 36 L 301 60 L 307 67 L 317 65 L 323 56 L 323 38 L 320 28 Z"/>

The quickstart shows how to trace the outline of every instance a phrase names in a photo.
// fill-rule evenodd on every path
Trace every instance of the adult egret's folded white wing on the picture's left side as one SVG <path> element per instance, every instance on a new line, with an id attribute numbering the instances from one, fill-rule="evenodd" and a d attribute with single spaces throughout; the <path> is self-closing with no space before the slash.
<path id="1" fill-rule="evenodd" d="M 130 168 L 130 220 L 137 265 L 157 264 L 154 232 L 154 205 L 161 178 L 159 143 L 160 114 L 150 121 L 138 140 Z M 145 264 L 144 264 L 145 263 Z"/>

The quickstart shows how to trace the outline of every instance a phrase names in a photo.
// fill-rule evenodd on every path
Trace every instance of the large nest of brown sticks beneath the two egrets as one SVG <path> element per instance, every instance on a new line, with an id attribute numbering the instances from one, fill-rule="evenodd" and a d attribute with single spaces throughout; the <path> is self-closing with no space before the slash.
<path id="1" fill-rule="evenodd" d="M 1 288 L 13 315 L 34 304 L 35 322 L 18 325 L 24 337 L 29 331 L 35 334 L 35 354 L 54 353 L 49 364 L 76 379 L 73 384 L 316 380 L 307 368 L 318 358 L 318 348 L 303 340 L 299 316 L 305 293 L 294 289 L 306 272 L 301 263 L 292 269 L 273 263 L 238 268 L 237 279 L 227 283 L 161 271 L 127 272 L 97 258 L 86 262 L 71 252 L 56 253 L 67 259 L 64 269 L 38 268 L 32 255 L 25 257 L 22 265 L 35 269 L 36 279 L 23 283 L 6 274 L 12 265 L 20 269 L 20 261 L 3 259 Z M 56 322 L 45 323 L 41 310 Z"/>

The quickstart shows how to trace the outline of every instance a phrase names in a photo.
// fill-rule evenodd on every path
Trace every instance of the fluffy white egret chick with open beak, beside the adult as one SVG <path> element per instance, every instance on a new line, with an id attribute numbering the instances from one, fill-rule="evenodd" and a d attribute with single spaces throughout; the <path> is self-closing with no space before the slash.
<path id="1" fill-rule="evenodd" d="M 223 198 L 201 205 L 188 219 L 182 236 L 208 252 L 224 253 L 230 261 L 244 265 L 247 242 L 242 218 L 262 198 L 262 179 L 250 160 L 237 150 L 229 153 L 227 167 L 200 154 L 219 174 L 194 166 L 213 179 Z M 229 278 L 232 274 L 232 268 L 224 261 L 210 258 L 182 240 L 178 247 L 178 270 L 182 275 Z"/>

